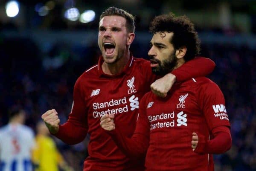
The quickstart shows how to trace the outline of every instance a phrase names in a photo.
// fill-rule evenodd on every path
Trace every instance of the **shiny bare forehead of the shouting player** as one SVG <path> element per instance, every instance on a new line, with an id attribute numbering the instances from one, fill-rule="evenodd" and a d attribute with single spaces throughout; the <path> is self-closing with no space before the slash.
<path id="1" fill-rule="evenodd" d="M 105 27 L 124 27 L 126 20 L 118 15 L 105 16 L 99 21 L 99 26 Z"/>

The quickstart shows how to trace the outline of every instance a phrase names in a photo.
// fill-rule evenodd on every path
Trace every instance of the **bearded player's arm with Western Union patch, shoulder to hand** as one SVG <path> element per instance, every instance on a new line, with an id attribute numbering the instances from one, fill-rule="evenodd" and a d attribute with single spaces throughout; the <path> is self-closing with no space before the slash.
<path id="1" fill-rule="evenodd" d="M 197 85 L 198 105 L 204 114 L 211 136 L 209 139 L 209 136 L 192 133 L 192 149 L 198 154 L 224 153 L 232 144 L 224 96 L 218 85 L 210 80 L 201 81 Z"/>

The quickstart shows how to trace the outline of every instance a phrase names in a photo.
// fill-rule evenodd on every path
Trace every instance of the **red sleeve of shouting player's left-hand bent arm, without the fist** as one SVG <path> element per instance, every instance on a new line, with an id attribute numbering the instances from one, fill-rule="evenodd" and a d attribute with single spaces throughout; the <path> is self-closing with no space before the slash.
<path id="1" fill-rule="evenodd" d="M 83 141 L 87 135 L 86 107 L 81 96 L 79 80 L 77 80 L 74 86 L 73 107 L 68 120 L 63 125 L 60 125 L 58 133 L 53 134 L 69 145 Z"/>

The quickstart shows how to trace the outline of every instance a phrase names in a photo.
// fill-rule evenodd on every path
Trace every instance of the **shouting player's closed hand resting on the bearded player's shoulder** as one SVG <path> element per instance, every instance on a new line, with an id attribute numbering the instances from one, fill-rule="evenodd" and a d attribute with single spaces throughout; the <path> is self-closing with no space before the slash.
<path id="1" fill-rule="evenodd" d="M 169 73 L 164 75 L 162 78 L 157 79 L 151 84 L 151 91 L 160 97 L 166 97 L 172 85 L 176 81 L 176 76 Z"/>

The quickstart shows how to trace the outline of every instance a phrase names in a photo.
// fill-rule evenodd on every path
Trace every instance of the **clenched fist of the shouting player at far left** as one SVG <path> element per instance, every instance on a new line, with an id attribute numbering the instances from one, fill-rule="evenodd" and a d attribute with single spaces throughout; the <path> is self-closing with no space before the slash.
<path id="1" fill-rule="evenodd" d="M 57 133 L 59 130 L 59 123 L 60 119 L 58 118 L 58 113 L 55 109 L 48 110 L 46 113 L 44 113 L 42 116 L 42 119 L 44 120 L 45 125 L 49 129 L 49 131 L 53 134 Z"/>

